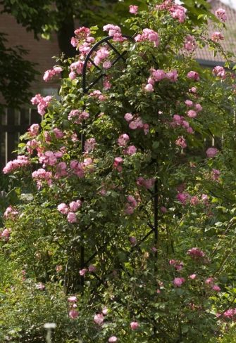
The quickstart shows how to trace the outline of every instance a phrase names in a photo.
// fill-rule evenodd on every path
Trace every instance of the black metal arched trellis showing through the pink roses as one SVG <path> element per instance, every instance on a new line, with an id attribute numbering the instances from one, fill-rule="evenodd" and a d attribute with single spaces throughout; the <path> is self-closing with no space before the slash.
<path id="1" fill-rule="evenodd" d="M 130 40 L 130 41 L 134 41 L 134 38 L 132 36 L 128 36 L 128 35 L 123 35 L 124 38 Z M 89 50 L 89 53 L 87 53 L 87 56 L 85 58 L 85 63 L 83 65 L 82 68 L 82 90 L 83 93 L 86 94 L 88 93 L 89 89 L 92 89 L 92 87 L 97 84 L 99 82 L 100 79 L 102 79 L 103 77 L 106 77 L 106 72 L 104 72 L 104 70 L 102 70 L 98 65 L 95 65 L 94 60 L 92 60 L 91 56 L 92 53 L 94 53 L 94 51 L 97 50 L 97 48 L 99 46 L 101 46 L 102 44 L 106 43 L 117 55 L 117 57 L 113 60 L 113 62 L 111 63 L 111 67 L 113 67 L 113 65 L 116 65 L 116 63 L 118 62 L 118 60 L 122 59 L 123 62 L 125 62 L 125 53 L 127 53 L 127 51 L 123 51 L 123 53 L 120 53 L 117 48 L 115 46 L 113 46 L 113 44 L 111 44 L 111 39 L 113 39 L 113 37 L 109 36 L 109 37 L 105 37 L 104 39 L 101 39 L 100 41 L 98 41 L 96 44 L 94 44 L 94 46 L 92 46 L 92 48 Z M 97 79 L 94 80 L 94 82 L 92 82 L 91 84 L 89 84 L 87 86 L 87 65 L 88 63 L 92 63 L 92 65 L 94 65 L 94 67 L 97 68 L 97 70 L 99 70 L 100 75 L 97 77 Z M 82 132 L 81 134 L 81 143 L 82 143 L 82 153 L 85 152 L 85 134 Z M 144 240 L 146 240 L 149 235 L 151 235 L 151 233 L 154 233 L 154 245 L 157 246 L 158 244 L 158 240 L 159 240 L 159 230 L 158 230 L 158 205 L 159 205 L 159 199 L 158 199 L 158 181 L 156 180 L 154 183 L 154 192 L 151 192 L 151 198 L 153 198 L 154 200 L 154 225 L 152 225 L 151 223 L 147 223 L 147 226 L 149 226 L 149 228 L 151 228 L 151 230 L 139 241 L 137 242 L 137 244 L 135 245 L 136 248 L 139 247 L 140 243 L 143 242 Z M 105 244 L 106 246 L 106 244 Z M 135 250 L 135 247 L 132 247 L 132 249 L 130 250 L 129 254 L 132 253 L 132 251 Z M 104 248 L 104 245 L 103 247 Z M 85 247 L 83 245 L 81 245 L 80 247 L 80 268 L 85 268 L 85 266 L 87 266 L 87 264 L 92 261 L 92 259 L 94 259 L 94 257 L 97 255 L 97 252 L 94 252 L 94 254 L 92 254 L 91 257 L 89 257 L 87 259 L 87 261 L 85 261 Z M 157 251 L 155 252 L 155 257 L 158 257 Z M 120 266 L 122 268 L 122 266 Z M 156 269 L 156 267 L 155 267 Z M 96 273 L 93 273 L 94 276 L 98 279 L 99 284 L 103 283 L 102 280 L 99 278 L 99 276 L 96 275 Z M 80 285 L 82 286 L 82 292 L 83 292 L 83 286 L 84 286 L 84 278 L 80 278 Z"/>

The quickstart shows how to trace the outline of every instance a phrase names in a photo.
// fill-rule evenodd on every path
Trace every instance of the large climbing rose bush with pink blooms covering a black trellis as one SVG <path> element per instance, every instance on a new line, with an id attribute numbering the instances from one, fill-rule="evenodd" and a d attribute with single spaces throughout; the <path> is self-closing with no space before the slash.
<path id="1" fill-rule="evenodd" d="M 60 100 L 32 98 L 42 124 L 4 168 L 21 187 L 1 245 L 22 283 L 63 285 L 75 339 L 210 342 L 234 318 L 230 55 L 171 0 L 128 11 L 130 37 L 105 25 L 108 43 L 88 56 L 101 37 L 80 27 L 75 59 L 46 71 L 61 73 Z M 202 46 L 225 67 L 202 70 Z"/>

